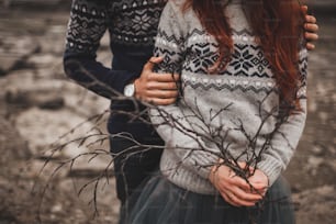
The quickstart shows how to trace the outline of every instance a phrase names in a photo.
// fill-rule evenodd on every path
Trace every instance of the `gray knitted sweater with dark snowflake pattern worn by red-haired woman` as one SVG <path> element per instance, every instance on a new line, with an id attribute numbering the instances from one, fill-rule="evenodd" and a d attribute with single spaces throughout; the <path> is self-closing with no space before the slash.
<path id="1" fill-rule="evenodd" d="M 168 1 L 159 23 L 156 55 L 160 71 L 181 74 L 181 100 L 152 109 L 150 120 L 166 143 L 160 170 L 175 184 L 198 193 L 216 193 L 208 180 L 219 158 L 255 158 L 272 184 L 289 164 L 306 119 L 306 49 L 300 51 L 301 110 L 279 123 L 279 94 L 270 65 L 242 11 L 232 1 L 226 14 L 233 29 L 234 53 L 226 69 L 209 75 L 217 44 L 183 0 Z M 271 138 L 271 139 L 269 139 Z M 256 158 L 257 159 L 257 158 Z"/>

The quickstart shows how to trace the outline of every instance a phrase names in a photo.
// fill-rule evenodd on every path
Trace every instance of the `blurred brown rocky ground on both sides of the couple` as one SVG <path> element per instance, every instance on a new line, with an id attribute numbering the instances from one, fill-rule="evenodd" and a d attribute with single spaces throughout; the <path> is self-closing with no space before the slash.
<path id="1" fill-rule="evenodd" d="M 336 220 L 336 2 L 309 1 L 321 26 L 310 55 L 309 119 L 298 152 L 285 172 L 299 224 Z M 59 164 L 92 148 L 107 149 L 109 102 L 65 78 L 61 54 L 70 1 L 0 0 L 0 224 L 116 223 L 119 202 L 110 157 L 82 156 L 72 167 Z M 99 59 L 110 64 L 108 37 Z M 87 143 L 97 142 L 88 146 Z M 51 149 L 56 149 L 48 160 Z M 91 160 L 92 159 L 92 160 Z M 47 161 L 47 163 L 46 163 Z M 44 165 L 45 168 L 41 171 Z M 60 167 L 63 166 L 63 167 Z M 60 169 L 58 169 L 60 168 Z M 90 203 L 94 178 L 99 216 Z M 81 188 L 88 188 L 78 195 Z M 107 182 L 108 181 L 108 182 Z"/>

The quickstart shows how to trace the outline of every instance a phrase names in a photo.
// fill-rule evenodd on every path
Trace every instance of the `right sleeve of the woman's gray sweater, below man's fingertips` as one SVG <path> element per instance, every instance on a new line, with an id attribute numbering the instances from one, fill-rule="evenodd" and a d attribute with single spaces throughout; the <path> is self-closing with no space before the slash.
<path id="1" fill-rule="evenodd" d="M 300 52 L 299 71 L 301 85 L 296 97 L 300 109 L 292 112 L 271 139 L 270 147 L 262 153 L 258 168 L 264 171 L 271 186 L 285 169 L 302 136 L 306 120 L 306 81 L 307 81 L 307 51 Z"/>

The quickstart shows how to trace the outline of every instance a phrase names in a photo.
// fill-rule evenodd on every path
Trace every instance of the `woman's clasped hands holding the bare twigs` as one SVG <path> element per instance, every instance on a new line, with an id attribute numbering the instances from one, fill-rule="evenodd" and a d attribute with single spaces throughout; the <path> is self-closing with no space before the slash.
<path id="1" fill-rule="evenodd" d="M 219 190 L 224 200 L 234 206 L 253 206 L 262 199 L 261 193 L 253 192 L 250 186 L 225 165 L 213 166 L 209 180 Z M 264 177 L 255 172 L 250 177 L 255 189 L 265 189 Z"/>

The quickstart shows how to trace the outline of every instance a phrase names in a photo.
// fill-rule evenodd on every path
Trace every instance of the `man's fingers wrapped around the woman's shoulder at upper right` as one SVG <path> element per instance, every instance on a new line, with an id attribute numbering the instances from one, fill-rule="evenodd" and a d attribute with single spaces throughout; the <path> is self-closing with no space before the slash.
<path id="1" fill-rule="evenodd" d="M 302 12 L 305 14 L 305 23 L 304 23 L 304 37 L 306 40 L 306 48 L 307 49 L 314 49 L 315 44 L 313 44 L 314 41 L 318 40 L 317 31 L 318 25 L 316 24 L 316 18 L 313 15 L 307 15 L 307 7 L 302 7 Z"/>

